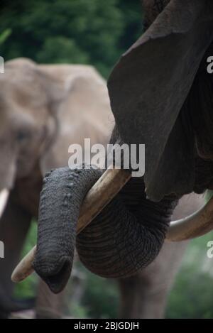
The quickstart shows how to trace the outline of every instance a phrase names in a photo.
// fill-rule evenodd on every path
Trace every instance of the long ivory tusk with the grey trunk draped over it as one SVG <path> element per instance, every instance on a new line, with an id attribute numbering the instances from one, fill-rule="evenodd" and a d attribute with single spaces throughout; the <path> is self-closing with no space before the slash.
<path id="1" fill-rule="evenodd" d="M 111 202 L 114 196 L 121 190 L 122 187 L 131 178 L 131 173 L 124 169 L 109 168 L 105 171 L 99 180 L 87 193 L 82 208 L 80 217 L 77 222 L 77 234 L 79 234 L 102 209 Z M 36 246 L 22 259 L 16 266 L 11 280 L 14 283 L 25 280 L 28 275 L 33 273 L 33 260 L 35 257 Z"/>

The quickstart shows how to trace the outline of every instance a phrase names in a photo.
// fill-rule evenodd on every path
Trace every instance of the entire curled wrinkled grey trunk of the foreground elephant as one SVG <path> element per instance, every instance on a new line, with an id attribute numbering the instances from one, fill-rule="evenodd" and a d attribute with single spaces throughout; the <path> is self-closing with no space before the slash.
<path id="1" fill-rule="evenodd" d="M 132 178 L 114 200 L 76 237 L 80 207 L 99 170 L 54 170 L 40 195 L 38 250 L 33 266 L 53 293 L 66 285 L 75 244 L 80 260 L 105 278 L 126 278 L 158 255 L 177 200 L 146 199 L 142 179 Z"/>

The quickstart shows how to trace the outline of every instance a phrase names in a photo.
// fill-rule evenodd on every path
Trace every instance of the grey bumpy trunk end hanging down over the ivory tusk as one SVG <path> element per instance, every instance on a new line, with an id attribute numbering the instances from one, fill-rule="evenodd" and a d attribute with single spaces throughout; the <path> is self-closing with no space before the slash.
<path id="1" fill-rule="evenodd" d="M 60 168 L 45 175 L 33 266 L 54 293 L 60 293 L 70 278 L 80 207 L 100 175 L 97 170 L 70 168 Z"/>

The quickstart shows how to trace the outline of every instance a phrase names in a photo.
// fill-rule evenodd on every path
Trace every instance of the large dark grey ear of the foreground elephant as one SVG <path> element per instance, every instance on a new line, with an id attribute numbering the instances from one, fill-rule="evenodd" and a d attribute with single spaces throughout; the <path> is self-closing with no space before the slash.
<path id="1" fill-rule="evenodd" d="M 185 101 L 212 28 L 212 0 L 171 0 L 109 77 L 121 138 L 146 145 L 146 192 L 153 201 L 192 192 L 194 138 Z"/>

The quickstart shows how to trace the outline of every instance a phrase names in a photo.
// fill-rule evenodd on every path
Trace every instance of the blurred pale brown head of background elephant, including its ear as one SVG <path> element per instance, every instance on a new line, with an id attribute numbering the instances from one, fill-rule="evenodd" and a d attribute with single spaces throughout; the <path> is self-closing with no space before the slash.
<path id="1" fill-rule="evenodd" d="M 1 217 L 17 180 L 35 178 L 35 168 L 42 179 L 51 168 L 67 165 L 70 144 L 82 144 L 84 137 L 107 143 L 104 126 L 111 111 L 106 84 L 89 66 L 20 58 L 6 62 L 0 84 Z"/>

